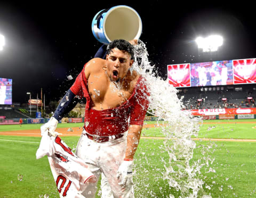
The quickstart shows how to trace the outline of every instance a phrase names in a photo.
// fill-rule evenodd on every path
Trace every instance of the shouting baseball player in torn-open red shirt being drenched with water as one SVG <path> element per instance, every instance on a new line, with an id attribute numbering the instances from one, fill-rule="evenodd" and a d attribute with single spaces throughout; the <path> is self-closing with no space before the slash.
<path id="1" fill-rule="evenodd" d="M 63 114 L 85 97 L 84 130 L 76 154 L 97 178 L 101 172 L 105 175 L 114 197 L 134 197 L 133 156 L 149 103 L 146 80 L 131 69 L 133 54 L 129 42 L 111 42 L 106 60 L 96 58 L 84 65 L 53 117 L 41 128 L 54 133 Z M 82 194 L 95 197 L 96 185 L 89 184 Z"/>

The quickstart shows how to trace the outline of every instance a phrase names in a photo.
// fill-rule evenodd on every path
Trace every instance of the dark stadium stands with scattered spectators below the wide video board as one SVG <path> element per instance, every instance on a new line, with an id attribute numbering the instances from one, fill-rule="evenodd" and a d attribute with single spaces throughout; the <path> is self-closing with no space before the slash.
<path id="1" fill-rule="evenodd" d="M 217 90 L 218 88 L 218 90 Z M 256 90 L 241 87 L 189 87 L 178 89 L 183 109 L 255 108 Z"/>

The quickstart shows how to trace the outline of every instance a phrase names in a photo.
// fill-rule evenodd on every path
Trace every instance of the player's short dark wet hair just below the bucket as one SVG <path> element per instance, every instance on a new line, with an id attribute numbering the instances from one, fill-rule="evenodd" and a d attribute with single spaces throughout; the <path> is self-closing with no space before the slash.
<path id="1" fill-rule="evenodd" d="M 134 47 L 132 44 L 127 42 L 127 40 L 124 40 L 124 39 L 113 40 L 113 42 L 109 43 L 107 47 L 107 54 L 110 54 L 112 49 L 114 49 L 115 47 L 118 48 L 118 50 L 128 52 L 131 55 L 131 59 L 132 60 L 134 59 L 134 51 L 133 51 Z"/>

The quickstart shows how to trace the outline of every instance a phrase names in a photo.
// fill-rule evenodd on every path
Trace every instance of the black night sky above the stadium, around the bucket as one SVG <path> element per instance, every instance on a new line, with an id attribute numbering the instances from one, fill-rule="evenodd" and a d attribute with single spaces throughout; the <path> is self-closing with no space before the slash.
<path id="1" fill-rule="evenodd" d="M 179 1 L 175 5 L 166 1 L 21 2 L 0 3 L 0 34 L 6 42 L 0 51 L 0 78 L 13 79 L 13 102 L 27 102 L 27 92 L 36 98 L 41 88 L 46 105 L 59 100 L 74 83 L 67 76 L 75 78 L 102 45 L 92 34 L 94 15 L 115 5 L 131 6 L 140 14 L 140 39 L 146 43 L 157 74 L 164 79 L 167 64 L 256 57 L 252 5 L 208 1 Z M 199 56 L 194 40 L 210 34 L 223 36 L 223 46 L 218 54 Z"/>

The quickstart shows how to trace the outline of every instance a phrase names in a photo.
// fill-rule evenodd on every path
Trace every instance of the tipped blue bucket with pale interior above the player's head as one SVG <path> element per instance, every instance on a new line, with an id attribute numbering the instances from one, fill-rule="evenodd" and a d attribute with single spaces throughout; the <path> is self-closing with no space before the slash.
<path id="1" fill-rule="evenodd" d="M 101 10 L 92 20 L 92 33 L 103 44 L 115 39 L 139 39 L 142 32 L 140 15 L 126 5 Z"/>

